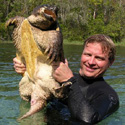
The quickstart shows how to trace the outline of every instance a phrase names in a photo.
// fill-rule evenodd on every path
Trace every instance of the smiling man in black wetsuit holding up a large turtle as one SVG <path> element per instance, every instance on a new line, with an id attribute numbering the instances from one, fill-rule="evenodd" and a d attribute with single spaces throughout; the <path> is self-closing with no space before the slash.
<path id="1" fill-rule="evenodd" d="M 68 94 L 68 108 L 72 118 L 82 124 L 95 124 L 119 107 L 119 99 L 114 89 L 103 79 L 106 70 L 115 60 L 115 45 L 106 35 L 97 34 L 84 42 L 79 74 L 73 74 L 68 62 L 54 64 L 54 78 L 60 82 L 71 82 Z M 17 73 L 25 66 L 14 59 Z M 20 68 L 23 67 L 23 68 Z"/>

